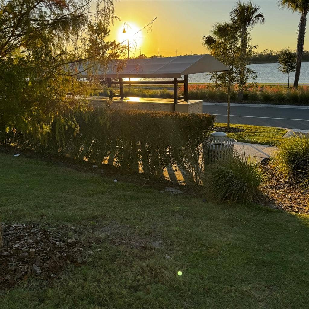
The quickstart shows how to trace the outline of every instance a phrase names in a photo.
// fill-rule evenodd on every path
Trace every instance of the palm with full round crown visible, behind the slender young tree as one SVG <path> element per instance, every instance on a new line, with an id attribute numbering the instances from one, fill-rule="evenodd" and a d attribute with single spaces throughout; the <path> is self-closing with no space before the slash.
<path id="1" fill-rule="evenodd" d="M 245 55 L 247 51 L 247 31 L 252 30 L 257 23 L 264 23 L 265 18 L 260 11 L 260 6 L 253 4 L 252 1 L 240 2 L 238 1 L 231 11 L 231 20 L 236 23 L 239 27 L 241 33 L 241 48 L 242 54 Z M 243 57 L 244 58 L 244 57 Z M 243 97 L 244 88 L 244 74 L 246 69 L 246 63 L 244 63 L 243 68 L 240 72 L 239 80 L 239 97 Z"/>

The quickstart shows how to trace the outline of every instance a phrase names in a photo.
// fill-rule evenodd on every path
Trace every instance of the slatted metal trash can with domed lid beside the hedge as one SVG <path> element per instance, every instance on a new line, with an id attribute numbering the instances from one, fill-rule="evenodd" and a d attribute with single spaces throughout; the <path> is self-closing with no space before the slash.
<path id="1" fill-rule="evenodd" d="M 212 164 L 218 160 L 231 158 L 236 142 L 234 138 L 226 137 L 224 132 L 211 133 L 204 148 L 205 164 Z"/>

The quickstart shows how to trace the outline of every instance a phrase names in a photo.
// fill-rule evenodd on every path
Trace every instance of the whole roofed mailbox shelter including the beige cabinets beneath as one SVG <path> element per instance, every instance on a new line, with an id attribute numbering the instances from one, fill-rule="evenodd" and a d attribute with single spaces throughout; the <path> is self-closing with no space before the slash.
<path id="1" fill-rule="evenodd" d="M 78 70 L 83 71 L 83 67 Z M 229 67 L 209 54 L 178 57 L 154 57 L 143 59 L 122 59 L 110 61 L 107 68 L 87 70 L 79 78 L 106 79 L 108 87 L 119 85 L 120 93 L 109 93 L 109 97 L 91 96 L 91 104 L 101 105 L 109 101 L 111 108 L 142 109 L 165 112 L 202 113 L 202 100 L 189 100 L 188 75 L 196 73 L 224 72 Z M 179 80 L 184 76 L 184 79 Z M 151 80 L 124 80 L 124 78 L 142 78 Z M 165 78 L 172 78 L 170 80 Z M 184 85 L 184 95 L 178 96 L 178 85 Z M 173 85 L 173 99 L 124 97 L 124 85 Z M 105 102 L 106 104 L 106 102 Z"/>

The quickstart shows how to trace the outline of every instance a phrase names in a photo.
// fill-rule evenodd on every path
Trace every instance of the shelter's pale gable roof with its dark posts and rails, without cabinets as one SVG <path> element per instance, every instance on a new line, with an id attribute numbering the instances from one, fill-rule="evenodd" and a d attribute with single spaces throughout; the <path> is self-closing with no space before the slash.
<path id="1" fill-rule="evenodd" d="M 79 69 L 82 71 L 81 68 Z M 123 85 L 173 85 L 174 99 L 170 103 L 178 104 L 180 101 L 181 103 L 188 102 L 188 74 L 224 72 L 228 70 L 229 67 L 225 66 L 216 58 L 209 54 L 204 54 L 114 60 L 110 61 L 104 70 L 100 68 L 87 70 L 79 74 L 78 77 L 91 78 L 91 76 L 95 76 L 96 78 L 106 78 L 108 87 L 112 87 L 112 84 L 119 85 L 120 94 L 112 95 L 112 92 L 110 92 L 109 95 L 109 99 L 116 99 L 118 102 L 125 99 Z M 182 76 L 184 76 L 184 79 L 179 80 L 178 78 Z M 124 81 L 124 78 L 155 79 Z M 183 96 L 178 96 L 178 84 L 184 84 Z M 150 100 L 153 102 L 153 99 Z"/>

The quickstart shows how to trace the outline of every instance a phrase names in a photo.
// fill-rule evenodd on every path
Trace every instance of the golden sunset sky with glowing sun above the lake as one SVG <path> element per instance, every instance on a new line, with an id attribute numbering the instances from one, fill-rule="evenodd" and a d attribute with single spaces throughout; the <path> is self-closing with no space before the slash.
<path id="1" fill-rule="evenodd" d="M 203 35 L 210 33 L 215 22 L 229 19 L 234 0 L 120 0 L 115 2 L 115 13 L 121 19 L 111 26 L 111 39 L 124 40 L 123 24 L 139 30 L 157 17 L 152 30 L 138 34 L 136 43 L 131 40 L 131 52 L 147 56 L 160 54 L 163 57 L 189 53 L 207 53 L 202 46 Z M 280 50 L 286 47 L 296 49 L 299 15 L 277 6 L 277 0 L 256 0 L 264 13 L 266 22 L 252 30 L 252 44 L 257 51 Z M 127 30 L 127 28 L 126 28 Z M 309 49 L 309 34 L 304 49 Z M 141 38 L 142 37 L 142 38 Z M 134 45 L 134 46 L 133 46 Z M 135 46 L 136 45 L 136 46 Z"/>

